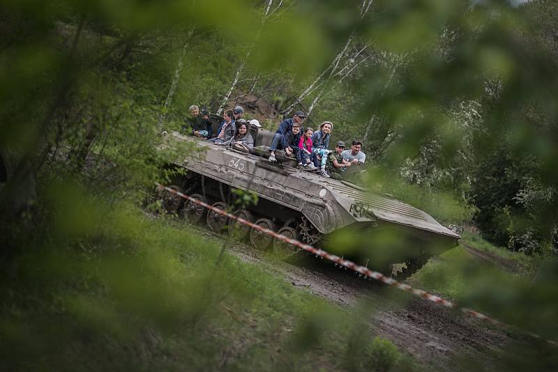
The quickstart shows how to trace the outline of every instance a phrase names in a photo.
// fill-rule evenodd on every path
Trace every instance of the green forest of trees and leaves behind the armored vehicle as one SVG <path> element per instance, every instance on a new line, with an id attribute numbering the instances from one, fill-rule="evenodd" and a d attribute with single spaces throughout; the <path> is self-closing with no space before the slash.
<path id="1" fill-rule="evenodd" d="M 553 272 L 555 14 L 545 0 L 1 1 L 3 274 L 21 282 L 45 247 L 89 260 L 131 239 L 90 225 L 142 204 L 168 159 L 153 141 L 190 104 L 241 104 L 270 129 L 296 109 L 331 121 L 333 143 L 363 141 L 371 187 Z M 556 336 L 549 319 L 538 331 Z"/>

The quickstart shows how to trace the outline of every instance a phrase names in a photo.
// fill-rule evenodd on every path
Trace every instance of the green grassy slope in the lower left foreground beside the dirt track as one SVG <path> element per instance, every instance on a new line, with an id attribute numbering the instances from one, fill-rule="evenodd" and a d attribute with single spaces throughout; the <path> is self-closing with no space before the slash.
<path id="1" fill-rule="evenodd" d="M 412 364 L 355 313 L 234 256 L 218 261 L 216 241 L 135 207 L 76 200 L 56 207 L 50 238 L 15 257 L 3 278 L 5 371 Z"/>

